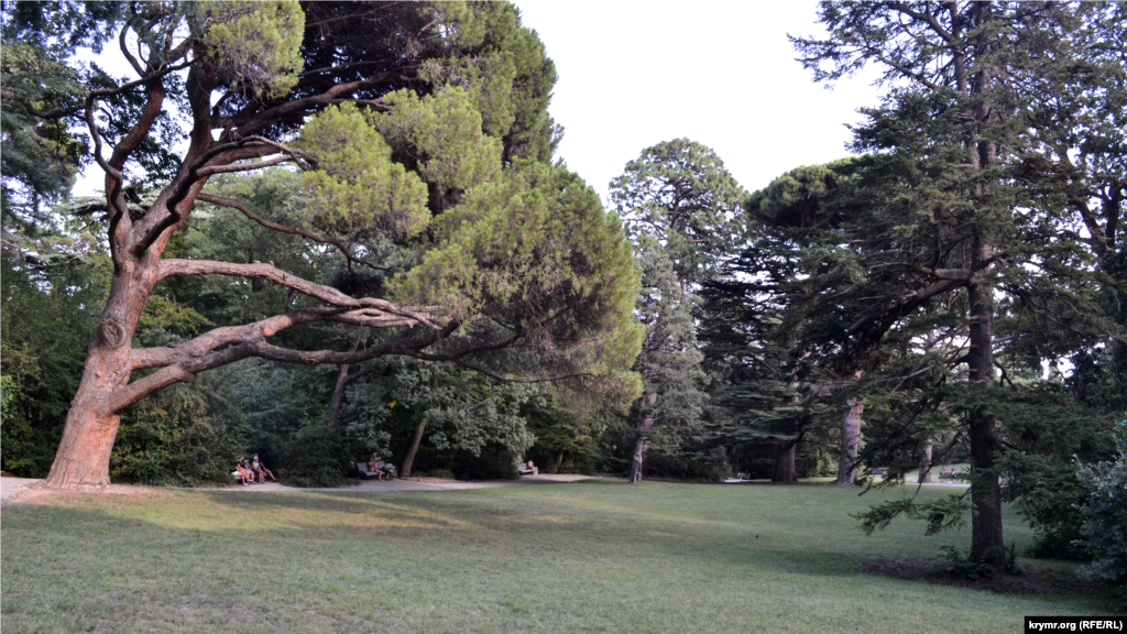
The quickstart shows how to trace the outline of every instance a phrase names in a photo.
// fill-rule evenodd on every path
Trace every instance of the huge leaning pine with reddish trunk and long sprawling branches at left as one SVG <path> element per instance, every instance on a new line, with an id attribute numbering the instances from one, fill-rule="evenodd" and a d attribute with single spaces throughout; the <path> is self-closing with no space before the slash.
<path id="1" fill-rule="evenodd" d="M 39 21 L 23 19 L 36 15 L 29 5 L 3 15 L 6 35 L 57 47 L 116 33 L 137 74 L 88 85 L 79 103 L 50 112 L 19 86 L 0 91 L 30 116 L 85 126 L 106 175 L 113 280 L 48 486 L 107 484 L 123 408 L 247 358 L 343 366 L 399 354 L 532 380 L 636 384 L 630 246 L 597 195 L 548 162 L 556 127 L 544 107 L 554 72 L 508 2 L 199 0 L 133 3 L 121 15 L 64 2 Z M 63 18 L 76 15 L 91 28 L 71 33 L 80 23 Z M 175 73 L 186 73 L 178 96 L 189 117 L 187 149 L 152 204 L 131 205 L 131 170 L 168 141 L 154 130 L 181 86 Z M 283 164 L 302 171 L 305 227 L 206 188 L 216 175 Z M 381 297 L 348 294 L 270 262 L 165 259 L 201 201 L 339 249 L 349 267 L 385 266 L 370 259 L 383 253 L 375 243 L 414 257 Z M 369 246 L 328 237 L 357 229 L 372 236 Z M 154 287 L 192 275 L 269 281 L 307 300 L 176 345 L 133 347 Z M 347 352 L 269 341 L 318 322 L 384 336 Z M 521 354 L 506 354 L 512 346 Z"/>

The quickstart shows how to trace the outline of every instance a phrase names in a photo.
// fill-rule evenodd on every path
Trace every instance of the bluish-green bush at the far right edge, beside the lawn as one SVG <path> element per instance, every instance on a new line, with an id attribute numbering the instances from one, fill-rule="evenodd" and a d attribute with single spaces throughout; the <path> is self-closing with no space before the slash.
<path id="1" fill-rule="evenodd" d="M 1084 518 L 1081 544 L 1092 556 L 1085 575 L 1117 589 L 1127 606 L 1127 421 L 1116 431 L 1119 459 L 1084 466 L 1077 474 L 1088 491 L 1080 509 Z"/>

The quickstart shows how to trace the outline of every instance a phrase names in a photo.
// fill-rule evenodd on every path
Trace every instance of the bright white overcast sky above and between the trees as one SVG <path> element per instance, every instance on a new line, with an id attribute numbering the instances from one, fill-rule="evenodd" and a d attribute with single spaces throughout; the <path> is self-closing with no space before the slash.
<path id="1" fill-rule="evenodd" d="M 875 105 L 872 76 L 833 90 L 795 61 L 787 34 L 822 33 L 817 0 L 514 0 L 556 61 L 559 156 L 606 199 L 627 161 L 687 137 L 747 190 L 848 155 L 845 123 Z M 99 63 L 124 74 L 107 46 Z M 96 166 L 76 193 L 101 188 Z"/>

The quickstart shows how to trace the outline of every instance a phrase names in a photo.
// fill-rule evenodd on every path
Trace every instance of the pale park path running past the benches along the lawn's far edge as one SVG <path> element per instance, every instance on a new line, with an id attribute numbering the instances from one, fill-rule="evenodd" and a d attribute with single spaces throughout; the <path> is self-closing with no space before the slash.
<path id="1" fill-rule="evenodd" d="M 361 493 L 382 493 L 382 492 L 390 493 L 398 491 L 460 491 L 465 488 L 494 488 L 497 486 L 518 486 L 518 485 L 530 485 L 530 484 L 567 484 L 584 479 L 593 479 L 594 477 L 597 476 L 542 474 L 534 476 L 523 476 L 521 477 L 521 479 L 497 479 L 497 481 L 486 481 L 486 482 L 456 482 L 450 479 L 429 479 L 429 478 L 396 479 L 385 482 L 380 482 L 378 479 L 375 481 L 369 479 L 360 483 L 356 486 L 334 486 L 334 487 L 322 487 L 322 488 L 300 488 L 296 486 L 286 486 L 284 484 L 268 482 L 266 484 L 251 484 L 249 486 L 216 486 L 213 488 L 198 488 L 197 491 L 230 492 L 232 494 L 248 493 L 248 492 L 264 492 L 264 491 L 269 491 L 269 492 L 353 491 Z M 0 505 L 8 503 L 18 493 L 25 491 L 27 486 L 39 482 L 43 481 L 24 478 L 24 477 L 0 477 Z M 122 485 L 115 484 L 113 488 L 121 490 Z M 127 488 L 133 488 L 133 487 L 127 487 Z"/>

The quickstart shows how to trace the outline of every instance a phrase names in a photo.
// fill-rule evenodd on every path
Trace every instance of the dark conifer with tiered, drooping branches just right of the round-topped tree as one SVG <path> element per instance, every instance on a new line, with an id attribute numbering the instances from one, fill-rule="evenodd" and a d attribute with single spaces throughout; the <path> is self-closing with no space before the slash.
<path id="1" fill-rule="evenodd" d="M 718 440 L 774 447 L 771 479 L 797 482 L 799 444 L 825 417 L 825 358 L 808 344 L 805 301 L 858 201 L 854 161 L 800 167 L 744 199 L 746 247 L 704 284 L 701 340 L 722 369 L 715 404 L 731 421 Z"/>

